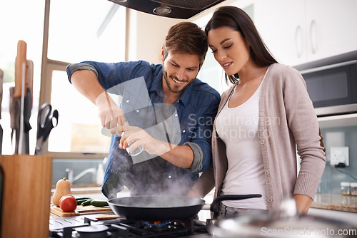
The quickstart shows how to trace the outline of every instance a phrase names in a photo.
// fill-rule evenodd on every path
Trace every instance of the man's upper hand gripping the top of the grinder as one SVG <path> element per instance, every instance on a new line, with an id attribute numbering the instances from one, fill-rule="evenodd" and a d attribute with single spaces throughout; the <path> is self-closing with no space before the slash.
<path id="1" fill-rule="evenodd" d="M 98 115 L 104 128 L 112 129 L 124 125 L 124 112 L 105 91 L 96 98 Z M 114 133 L 113 133 L 114 134 Z"/>

